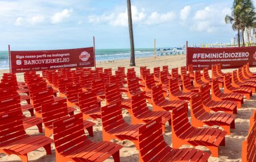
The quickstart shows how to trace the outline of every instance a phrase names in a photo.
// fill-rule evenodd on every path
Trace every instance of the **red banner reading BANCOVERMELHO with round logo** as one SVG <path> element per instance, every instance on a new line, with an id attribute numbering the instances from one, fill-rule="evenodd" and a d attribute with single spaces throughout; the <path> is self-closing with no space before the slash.
<path id="1" fill-rule="evenodd" d="M 10 51 L 12 73 L 31 70 L 94 67 L 94 48 L 47 51 Z"/>

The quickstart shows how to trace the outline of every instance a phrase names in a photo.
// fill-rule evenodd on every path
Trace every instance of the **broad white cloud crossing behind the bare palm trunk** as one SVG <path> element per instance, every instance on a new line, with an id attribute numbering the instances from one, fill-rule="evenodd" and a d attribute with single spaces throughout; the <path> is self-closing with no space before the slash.
<path id="1" fill-rule="evenodd" d="M 138 9 L 137 6 L 131 6 L 131 14 L 133 16 L 134 24 L 140 23 L 146 25 L 170 22 L 176 16 L 174 12 L 159 14 L 156 11 L 147 15 L 143 8 Z M 128 26 L 127 10 L 122 13 L 112 13 L 109 15 L 90 15 L 88 16 L 88 20 L 92 24 L 109 23 L 112 26 Z"/>

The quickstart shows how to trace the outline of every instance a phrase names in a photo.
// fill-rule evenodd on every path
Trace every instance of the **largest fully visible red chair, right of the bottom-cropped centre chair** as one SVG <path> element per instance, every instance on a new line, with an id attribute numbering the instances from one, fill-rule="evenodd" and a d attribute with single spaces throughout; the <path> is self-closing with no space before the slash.
<path id="1" fill-rule="evenodd" d="M 218 146 L 225 146 L 226 131 L 218 128 L 195 128 L 188 121 L 188 109 L 180 107 L 172 110 L 172 147 L 179 148 L 184 144 L 205 146 L 213 157 L 218 157 Z"/>

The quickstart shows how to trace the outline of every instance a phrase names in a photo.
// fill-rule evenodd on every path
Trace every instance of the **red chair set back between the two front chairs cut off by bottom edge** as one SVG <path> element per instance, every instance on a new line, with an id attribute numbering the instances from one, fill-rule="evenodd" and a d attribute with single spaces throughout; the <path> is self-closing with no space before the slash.
<path id="1" fill-rule="evenodd" d="M 104 141 L 112 139 L 131 140 L 138 146 L 138 130 L 143 124 L 126 123 L 122 116 L 121 102 L 101 107 L 102 138 Z"/>

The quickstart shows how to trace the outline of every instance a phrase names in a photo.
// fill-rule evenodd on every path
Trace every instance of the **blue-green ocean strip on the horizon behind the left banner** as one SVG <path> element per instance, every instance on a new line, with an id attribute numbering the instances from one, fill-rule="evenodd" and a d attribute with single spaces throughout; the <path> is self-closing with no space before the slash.
<path id="1" fill-rule="evenodd" d="M 158 51 L 156 55 L 184 54 L 184 51 Z M 137 48 L 135 49 L 135 58 L 154 56 L 153 48 Z M 109 61 L 119 59 L 129 59 L 130 49 L 96 49 L 96 61 Z M 0 51 L 0 69 L 9 69 L 8 51 Z"/>

